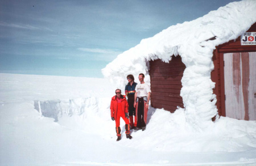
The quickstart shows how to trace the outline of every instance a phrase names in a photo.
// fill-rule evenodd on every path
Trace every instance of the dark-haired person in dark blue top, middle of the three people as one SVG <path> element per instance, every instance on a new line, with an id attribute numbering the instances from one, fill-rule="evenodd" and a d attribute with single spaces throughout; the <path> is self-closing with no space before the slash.
<path id="1" fill-rule="evenodd" d="M 125 94 L 128 99 L 128 105 L 129 105 L 129 118 L 130 118 L 130 126 L 131 129 L 135 129 L 137 125 L 136 117 L 135 117 L 135 108 L 134 108 L 134 94 L 135 94 L 135 87 L 137 86 L 137 83 L 134 82 L 134 76 L 133 75 L 127 75 L 128 83 L 125 86 Z M 133 120 L 134 116 L 134 120 Z"/>

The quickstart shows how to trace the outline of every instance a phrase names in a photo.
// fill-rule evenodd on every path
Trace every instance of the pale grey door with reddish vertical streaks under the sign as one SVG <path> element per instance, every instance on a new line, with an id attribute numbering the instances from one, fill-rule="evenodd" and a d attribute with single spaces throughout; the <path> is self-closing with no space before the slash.
<path id="1" fill-rule="evenodd" d="M 226 116 L 256 120 L 256 52 L 224 53 Z"/>

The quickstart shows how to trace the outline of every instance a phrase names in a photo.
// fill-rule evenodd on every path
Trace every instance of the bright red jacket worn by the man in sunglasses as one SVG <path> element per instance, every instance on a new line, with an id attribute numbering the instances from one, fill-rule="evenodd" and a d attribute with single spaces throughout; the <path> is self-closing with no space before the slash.
<path id="1" fill-rule="evenodd" d="M 127 103 L 127 100 L 125 98 L 125 95 L 122 95 L 122 96 L 123 96 L 123 99 L 121 101 L 121 103 L 122 103 L 122 110 L 125 113 L 128 113 L 128 103 Z M 111 117 L 114 117 L 116 119 L 117 118 L 117 99 L 116 99 L 116 96 L 112 97 L 111 105 L 110 105 L 110 110 L 111 110 Z"/>

